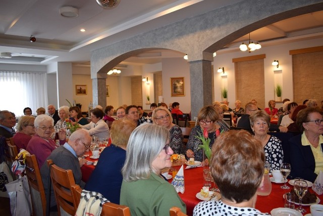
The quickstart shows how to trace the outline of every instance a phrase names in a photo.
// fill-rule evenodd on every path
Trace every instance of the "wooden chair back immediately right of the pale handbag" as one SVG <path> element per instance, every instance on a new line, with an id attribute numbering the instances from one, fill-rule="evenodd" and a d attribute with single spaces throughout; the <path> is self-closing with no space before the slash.
<path id="1" fill-rule="evenodd" d="M 44 186 L 42 184 L 40 171 L 37 163 L 36 156 L 26 155 L 26 175 L 28 179 L 28 184 L 30 188 L 30 196 L 32 203 L 32 215 L 46 215 L 46 195 L 44 191 Z M 37 194 L 37 192 L 39 194 Z M 39 197 L 41 205 L 38 204 Z"/>

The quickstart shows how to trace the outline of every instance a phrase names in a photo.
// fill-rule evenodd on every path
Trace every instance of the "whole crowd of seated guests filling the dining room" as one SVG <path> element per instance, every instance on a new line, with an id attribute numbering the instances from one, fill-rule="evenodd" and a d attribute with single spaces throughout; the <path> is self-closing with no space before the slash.
<path id="1" fill-rule="evenodd" d="M 194 209 L 194 215 L 208 211 L 229 212 L 229 215 L 235 215 L 245 210 L 261 215 L 254 206 L 264 161 L 270 162 L 273 170 L 280 169 L 284 160 L 282 142 L 277 137 L 267 134 L 274 126 L 270 123 L 271 115 L 265 110 L 258 110 L 254 103 L 248 103 L 237 124 L 246 130 L 237 132 L 230 131 L 230 126 L 223 121 L 224 112 L 229 110 L 226 104 L 204 106 L 198 112 L 198 124 L 192 128 L 185 152 L 182 152 L 183 135 L 180 127 L 174 124 L 172 119 L 173 109 L 177 109 L 174 112 L 179 110 L 177 106 L 172 104 L 172 112 L 167 106 L 154 107 L 151 119 L 140 118 L 142 107 L 119 107 L 116 110 L 118 118 L 113 121 L 111 130 L 104 122 L 104 112 L 100 108 L 91 111 L 91 122 L 85 125 L 82 125 L 78 116 L 74 114 L 73 118 L 81 128 L 77 129 L 68 141 L 66 128 L 58 128 L 59 147 L 50 138 L 55 128 L 52 117 L 39 115 L 35 118 L 26 115 L 19 119 L 18 132 L 14 136 L 17 140 L 15 143 L 17 145 L 24 141 L 19 148 L 27 149 L 30 154 L 36 155 L 45 187 L 48 188 L 46 184 L 49 178 L 45 161 L 52 159 L 58 166 L 72 169 L 77 184 L 85 186 L 86 190 L 101 193 L 114 203 L 129 206 L 133 215 L 169 215 L 172 206 L 178 206 L 186 212 L 185 203 L 174 187 L 160 175 L 162 169 L 172 166 L 172 154 L 184 153 L 187 158 L 193 157 L 196 161 L 210 165 L 212 177 L 223 197 L 221 201 L 199 203 Z M 295 119 L 293 122 L 288 121 L 291 122 L 290 125 L 295 123 L 300 132 L 289 141 L 292 167 L 290 176 L 314 182 L 318 172 L 323 170 L 322 110 L 306 105 L 297 106 L 294 102 L 286 103 L 285 106 L 284 117 Z M 110 112 L 112 115 L 112 110 L 113 107 L 106 108 L 105 113 Z M 77 110 L 71 108 L 69 111 L 70 117 L 72 112 L 77 113 Z M 62 116 L 60 120 L 69 117 L 67 112 L 64 107 L 59 109 L 60 117 Z M 0 133 L 2 129 L 12 128 L 15 122 L 10 112 L 0 111 Z M 276 125 L 272 130 L 284 131 L 287 120 L 282 122 L 281 125 L 284 126 Z M 203 152 L 199 149 L 202 142 L 197 137 L 203 134 L 204 130 L 207 131 L 209 147 L 212 150 L 210 161 L 203 158 Z M 92 140 L 90 136 L 93 135 L 111 138 L 112 145 L 101 152 L 98 163 L 85 184 L 81 181 L 80 169 L 85 159 L 78 160 L 77 157 L 89 149 Z M 243 168 L 246 163 L 249 164 L 248 169 Z M 231 175 L 223 175 L 224 172 Z M 245 179 L 246 176 L 253 178 Z M 165 193 L 168 195 L 165 196 Z M 51 201 L 51 206 L 55 206 L 55 198 L 52 197 Z"/>

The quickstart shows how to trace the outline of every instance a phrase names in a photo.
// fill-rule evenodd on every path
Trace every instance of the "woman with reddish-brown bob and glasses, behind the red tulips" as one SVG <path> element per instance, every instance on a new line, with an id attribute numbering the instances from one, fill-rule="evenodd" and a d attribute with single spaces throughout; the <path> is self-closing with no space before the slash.
<path id="1" fill-rule="evenodd" d="M 194 157 L 196 161 L 203 160 L 203 151 L 202 149 L 198 149 L 200 145 L 202 145 L 202 141 L 196 136 L 200 136 L 203 134 L 204 128 L 206 128 L 208 133 L 208 138 L 210 139 L 210 146 L 212 147 L 214 141 L 216 140 L 216 122 L 219 119 L 219 114 L 217 113 L 216 109 L 213 106 L 204 106 L 197 115 L 197 121 L 199 125 L 196 125 L 188 139 L 186 145 L 186 156 L 188 158 Z M 205 159 L 208 164 L 207 159 Z"/>

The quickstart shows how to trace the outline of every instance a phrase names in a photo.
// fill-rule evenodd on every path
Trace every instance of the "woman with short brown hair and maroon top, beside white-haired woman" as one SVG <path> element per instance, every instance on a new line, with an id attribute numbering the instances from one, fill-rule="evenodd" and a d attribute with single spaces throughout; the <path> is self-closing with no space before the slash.
<path id="1" fill-rule="evenodd" d="M 34 116 L 26 115 L 19 118 L 17 126 L 18 132 L 13 137 L 18 152 L 20 151 L 20 149 L 27 149 L 27 145 L 31 139 L 31 136 L 36 133 L 34 121 Z"/>

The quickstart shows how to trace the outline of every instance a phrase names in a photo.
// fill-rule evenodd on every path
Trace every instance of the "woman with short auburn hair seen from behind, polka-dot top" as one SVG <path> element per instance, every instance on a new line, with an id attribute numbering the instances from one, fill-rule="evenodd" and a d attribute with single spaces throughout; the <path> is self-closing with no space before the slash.
<path id="1" fill-rule="evenodd" d="M 263 178 L 260 142 L 244 130 L 221 135 L 212 146 L 210 171 L 222 198 L 198 203 L 193 215 L 268 215 L 255 209 Z"/>

